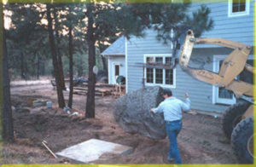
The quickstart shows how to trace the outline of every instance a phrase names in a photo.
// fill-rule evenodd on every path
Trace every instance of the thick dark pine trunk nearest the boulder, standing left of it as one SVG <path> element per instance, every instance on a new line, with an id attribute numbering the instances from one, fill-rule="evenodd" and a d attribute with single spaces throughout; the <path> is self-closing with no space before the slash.
<path id="1" fill-rule="evenodd" d="M 88 81 L 88 92 L 86 101 L 86 112 L 85 118 L 95 118 L 95 83 L 96 75 L 93 73 L 93 66 L 96 65 L 95 58 L 95 39 L 93 36 L 93 16 L 91 13 L 91 3 L 88 4 L 88 29 L 87 29 L 87 42 L 89 43 L 89 81 Z"/>

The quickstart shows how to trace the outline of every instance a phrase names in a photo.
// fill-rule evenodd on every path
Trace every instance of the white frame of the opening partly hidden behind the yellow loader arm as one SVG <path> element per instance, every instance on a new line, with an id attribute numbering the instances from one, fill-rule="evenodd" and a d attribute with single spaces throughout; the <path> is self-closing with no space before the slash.
<path id="1" fill-rule="evenodd" d="M 219 72 L 219 61 L 224 60 L 226 55 L 213 55 L 213 72 Z M 218 86 L 212 85 L 212 104 L 226 104 L 233 105 L 236 103 L 236 97 L 233 94 L 232 99 L 224 99 L 218 97 Z"/>

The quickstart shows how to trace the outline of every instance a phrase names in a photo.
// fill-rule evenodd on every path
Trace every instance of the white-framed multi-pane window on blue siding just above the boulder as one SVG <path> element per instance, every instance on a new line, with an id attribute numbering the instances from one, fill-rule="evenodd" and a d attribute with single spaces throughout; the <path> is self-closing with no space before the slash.
<path id="1" fill-rule="evenodd" d="M 144 70 L 145 84 L 175 88 L 175 69 L 164 69 L 163 65 L 171 65 L 172 55 L 144 55 L 144 62 L 150 67 Z M 155 67 L 154 67 L 155 66 Z"/>

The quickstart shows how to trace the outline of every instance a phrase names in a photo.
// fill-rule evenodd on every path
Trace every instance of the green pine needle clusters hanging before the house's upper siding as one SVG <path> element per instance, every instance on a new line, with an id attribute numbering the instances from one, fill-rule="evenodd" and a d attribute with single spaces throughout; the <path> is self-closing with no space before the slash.
<path id="1" fill-rule="evenodd" d="M 195 32 L 195 37 L 201 36 L 203 32 L 212 29 L 213 20 L 209 17 L 210 9 L 202 5 L 193 14 L 189 13 L 190 3 L 159 3 L 149 6 L 152 10 L 152 22 L 154 29 L 157 30 L 157 38 L 163 40 L 164 43 L 168 41 L 176 42 L 179 37 L 187 29 L 192 29 Z M 173 31 L 173 36 L 172 36 Z"/>

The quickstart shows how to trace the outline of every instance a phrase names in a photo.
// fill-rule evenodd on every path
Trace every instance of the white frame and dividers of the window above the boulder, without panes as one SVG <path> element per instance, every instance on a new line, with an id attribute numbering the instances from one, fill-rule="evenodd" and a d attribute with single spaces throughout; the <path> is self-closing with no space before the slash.
<path id="1" fill-rule="evenodd" d="M 164 63 L 166 63 L 166 57 L 172 57 L 172 54 L 146 54 L 144 55 L 144 63 L 147 63 L 147 57 L 162 57 Z M 175 89 L 176 88 L 176 68 L 172 69 L 172 84 L 166 84 L 166 70 L 163 69 L 163 83 L 155 83 L 155 68 L 153 70 L 153 83 L 147 83 L 147 68 L 145 67 L 144 70 L 144 82 L 146 86 L 161 86 L 164 88 L 172 88 Z"/>

